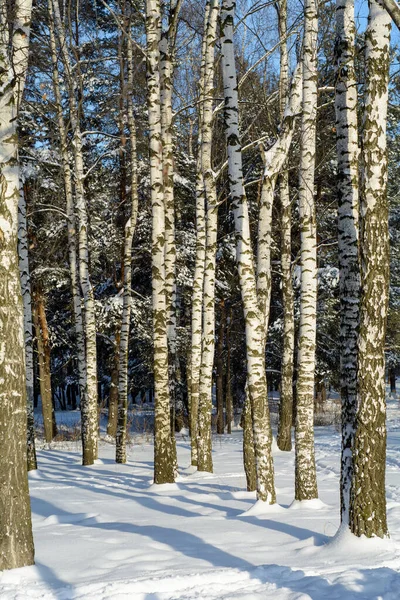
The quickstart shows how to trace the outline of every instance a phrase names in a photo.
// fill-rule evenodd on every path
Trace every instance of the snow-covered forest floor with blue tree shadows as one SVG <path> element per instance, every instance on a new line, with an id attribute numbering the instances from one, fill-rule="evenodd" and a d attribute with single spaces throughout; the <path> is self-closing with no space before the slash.
<path id="1" fill-rule="evenodd" d="M 388 414 L 390 540 L 335 538 L 339 434 L 316 428 L 320 501 L 292 504 L 294 453 L 275 452 L 279 506 L 260 514 L 245 490 L 241 433 L 214 437 L 213 475 L 188 467 L 152 486 L 152 445 L 126 465 L 103 443 L 93 467 L 76 445 L 40 450 L 30 474 L 36 565 L 0 573 L 1 600 L 399 600 L 400 404 Z M 69 449 L 66 449 L 66 447 Z M 71 449 L 72 448 L 72 449 Z M 253 507 L 253 508 L 252 508 Z"/>

